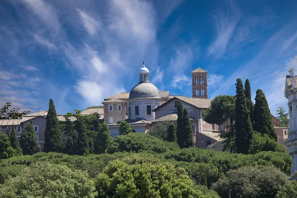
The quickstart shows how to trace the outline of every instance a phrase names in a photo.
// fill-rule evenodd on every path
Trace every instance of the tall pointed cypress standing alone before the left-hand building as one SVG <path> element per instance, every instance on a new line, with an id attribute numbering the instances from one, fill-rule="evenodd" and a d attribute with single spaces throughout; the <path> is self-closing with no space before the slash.
<path id="1" fill-rule="evenodd" d="M 57 113 L 53 104 L 53 100 L 49 99 L 49 111 L 47 115 L 44 151 L 61 152 L 62 149 L 63 142 L 59 120 L 57 118 Z"/>

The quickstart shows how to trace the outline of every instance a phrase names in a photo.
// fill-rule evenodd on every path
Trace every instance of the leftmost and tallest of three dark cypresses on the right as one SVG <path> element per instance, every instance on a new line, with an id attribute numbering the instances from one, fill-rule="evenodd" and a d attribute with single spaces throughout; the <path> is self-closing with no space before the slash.
<path id="1" fill-rule="evenodd" d="M 236 152 L 248 153 L 250 141 L 252 139 L 252 126 L 247 109 L 244 86 L 240 78 L 236 79 L 236 102 L 235 102 L 235 146 Z"/>

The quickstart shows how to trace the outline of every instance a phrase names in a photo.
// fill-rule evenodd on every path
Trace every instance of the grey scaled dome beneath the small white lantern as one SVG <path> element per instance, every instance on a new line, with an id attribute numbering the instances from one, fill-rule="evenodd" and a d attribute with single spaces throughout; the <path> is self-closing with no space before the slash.
<path id="1" fill-rule="evenodd" d="M 160 99 L 161 94 L 156 86 L 154 86 L 150 82 L 143 82 L 135 85 L 129 94 L 129 99 L 137 99 L 137 98 Z"/>

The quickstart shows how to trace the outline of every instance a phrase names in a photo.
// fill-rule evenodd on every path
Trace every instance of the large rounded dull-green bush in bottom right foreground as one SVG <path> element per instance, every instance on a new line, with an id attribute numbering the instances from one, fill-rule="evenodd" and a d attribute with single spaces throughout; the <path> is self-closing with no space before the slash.
<path id="1" fill-rule="evenodd" d="M 274 198 L 288 176 L 273 166 L 247 166 L 230 170 L 212 184 L 222 198 Z"/>

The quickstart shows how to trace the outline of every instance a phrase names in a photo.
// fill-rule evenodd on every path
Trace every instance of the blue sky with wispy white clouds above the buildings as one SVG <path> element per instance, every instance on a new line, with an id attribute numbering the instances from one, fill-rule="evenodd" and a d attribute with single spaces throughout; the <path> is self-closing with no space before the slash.
<path id="1" fill-rule="evenodd" d="M 191 96 L 191 71 L 208 95 L 234 95 L 236 78 L 287 107 L 297 69 L 295 0 L 1 0 L 0 102 L 57 112 L 130 92 L 142 62 L 170 95 Z"/>

